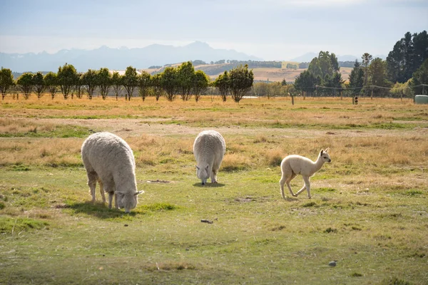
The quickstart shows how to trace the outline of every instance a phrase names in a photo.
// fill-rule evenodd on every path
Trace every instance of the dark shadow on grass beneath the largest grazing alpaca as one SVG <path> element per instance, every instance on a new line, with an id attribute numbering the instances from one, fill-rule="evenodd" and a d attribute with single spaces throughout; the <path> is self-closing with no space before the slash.
<path id="1" fill-rule="evenodd" d="M 84 202 L 84 203 L 75 203 L 67 207 L 68 209 L 73 210 L 76 214 L 88 214 L 99 219 L 112 219 L 126 216 L 135 216 L 136 212 L 131 212 L 126 214 L 123 210 L 120 209 L 108 209 L 108 206 L 103 203 Z"/>

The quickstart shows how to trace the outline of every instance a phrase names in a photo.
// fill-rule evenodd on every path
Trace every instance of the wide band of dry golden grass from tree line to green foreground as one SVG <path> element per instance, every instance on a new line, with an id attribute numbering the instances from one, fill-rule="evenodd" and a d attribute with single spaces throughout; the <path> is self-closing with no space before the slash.
<path id="1" fill-rule="evenodd" d="M 155 166 L 193 160 L 195 135 L 204 128 L 216 127 L 227 142 L 225 169 L 233 169 L 233 165 L 237 169 L 275 166 L 281 157 L 293 153 L 315 159 L 322 147 L 332 149 L 332 159 L 337 163 L 373 167 L 424 165 L 428 155 L 425 106 L 369 98 L 360 105 L 352 105 L 348 100 L 307 98 L 292 106 L 288 98 L 243 100 L 239 105 L 230 100 L 212 103 L 208 98 L 199 103 L 156 102 L 154 98 L 144 103 L 138 98 L 128 103 L 113 98 L 9 98 L 1 105 L 0 134 L 41 135 L 56 130 L 58 125 L 76 124 L 91 130 L 109 130 L 126 138 L 136 153 L 138 165 Z M 127 119 L 128 115 L 136 119 Z M 78 116 L 111 119 L 73 119 Z M 374 123 L 381 128 L 374 128 Z M 382 124 L 387 128 L 382 128 Z M 389 126 L 394 127 L 392 124 L 399 124 L 399 128 L 388 130 Z M 357 127 L 348 129 L 347 125 Z M 1 139 L 0 165 L 81 163 L 83 137 L 27 137 Z"/>

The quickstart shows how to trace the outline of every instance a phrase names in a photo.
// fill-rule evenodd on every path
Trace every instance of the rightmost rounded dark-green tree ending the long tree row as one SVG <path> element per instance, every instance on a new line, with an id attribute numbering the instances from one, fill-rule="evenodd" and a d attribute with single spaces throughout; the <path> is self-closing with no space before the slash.
<path id="1" fill-rule="evenodd" d="M 229 72 L 229 78 L 232 99 L 236 103 L 239 103 L 244 95 L 251 90 L 251 86 L 253 86 L 253 71 L 248 71 L 247 64 L 245 64 L 245 66 L 240 65 Z"/>

